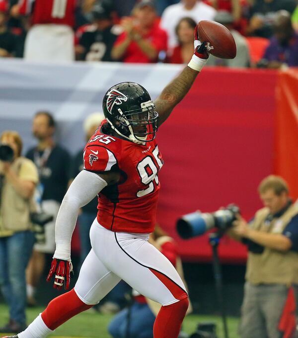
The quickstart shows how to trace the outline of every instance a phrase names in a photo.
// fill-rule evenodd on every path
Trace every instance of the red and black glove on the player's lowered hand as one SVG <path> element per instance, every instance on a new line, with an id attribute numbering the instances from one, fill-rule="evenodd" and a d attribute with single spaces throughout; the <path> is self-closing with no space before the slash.
<path id="1" fill-rule="evenodd" d="M 72 271 L 73 264 L 71 261 L 53 258 L 51 269 L 47 277 L 47 282 L 51 281 L 51 278 L 55 273 L 55 281 L 53 288 L 61 290 L 64 284 L 64 288 L 68 290 L 70 288 Z"/>

